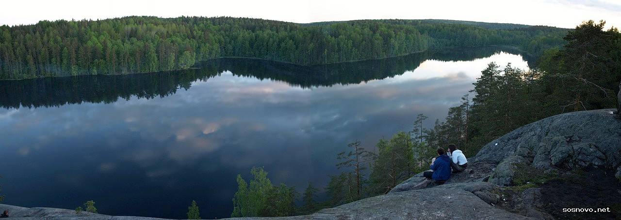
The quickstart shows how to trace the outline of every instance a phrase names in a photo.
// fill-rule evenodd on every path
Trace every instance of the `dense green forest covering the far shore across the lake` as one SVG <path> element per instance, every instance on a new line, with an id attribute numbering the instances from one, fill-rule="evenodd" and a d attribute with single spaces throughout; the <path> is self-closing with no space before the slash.
<path id="1" fill-rule="evenodd" d="M 480 22 L 479 22 L 480 23 Z M 407 55 L 443 46 L 556 48 L 566 29 L 441 20 L 294 24 L 232 17 L 122 17 L 0 26 L 0 79 L 187 69 L 247 57 L 301 65 Z M 500 28 L 501 27 L 501 28 Z M 513 28 L 510 28 L 513 27 Z"/>

